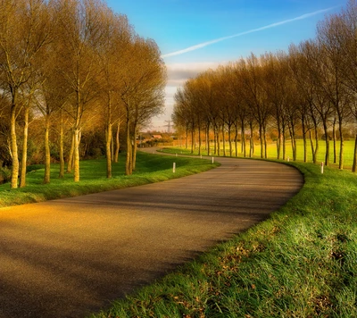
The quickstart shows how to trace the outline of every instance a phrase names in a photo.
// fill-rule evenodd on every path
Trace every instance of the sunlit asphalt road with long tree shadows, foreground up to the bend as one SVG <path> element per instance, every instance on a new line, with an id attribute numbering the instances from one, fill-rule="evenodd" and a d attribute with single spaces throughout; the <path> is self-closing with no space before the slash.
<path id="1" fill-rule="evenodd" d="M 261 222 L 303 185 L 220 158 L 178 180 L 0 209 L 0 318 L 84 317 Z"/>

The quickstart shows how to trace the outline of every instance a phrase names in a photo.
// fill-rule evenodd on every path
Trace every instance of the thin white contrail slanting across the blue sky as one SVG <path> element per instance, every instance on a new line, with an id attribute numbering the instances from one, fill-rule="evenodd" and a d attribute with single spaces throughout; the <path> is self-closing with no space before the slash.
<path id="1" fill-rule="evenodd" d="M 280 21 L 280 22 L 276 22 L 276 23 L 272 23 L 272 24 L 266 25 L 265 27 L 262 27 L 262 28 L 250 29 L 249 31 L 237 33 L 237 34 L 235 34 L 233 36 L 228 36 L 228 37 L 223 37 L 223 38 L 216 38 L 216 39 L 213 39 L 211 41 L 207 41 L 207 42 L 203 42 L 201 44 L 197 44 L 195 46 L 189 46 L 189 47 L 187 47 L 187 48 L 185 48 L 183 50 L 179 50 L 179 51 L 172 52 L 172 53 L 169 53 L 169 54 L 163 54 L 162 57 L 169 57 L 169 56 L 174 56 L 174 55 L 185 54 L 187 52 L 198 50 L 199 48 L 202 48 L 204 46 L 211 46 L 214 43 L 225 41 L 225 40 L 227 40 L 229 38 L 237 38 L 237 37 L 244 36 L 245 34 L 250 34 L 250 33 L 262 31 L 263 29 L 271 29 L 271 28 L 275 28 L 275 27 L 278 27 L 279 25 L 283 25 L 283 24 L 286 24 L 286 23 L 290 23 L 290 22 L 294 22 L 294 21 L 298 21 L 298 20 L 308 19 L 311 16 L 314 16 L 314 15 L 317 15 L 317 14 L 320 14 L 320 13 L 326 13 L 326 12 L 328 12 L 330 10 L 335 9 L 335 8 L 336 8 L 336 6 L 328 8 L 328 9 L 315 11 L 313 13 L 306 13 L 306 14 L 300 15 L 300 16 L 298 16 L 296 18 L 293 18 L 293 19 L 288 19 L 288 20 L 285 20 L 285 21 Z"/>

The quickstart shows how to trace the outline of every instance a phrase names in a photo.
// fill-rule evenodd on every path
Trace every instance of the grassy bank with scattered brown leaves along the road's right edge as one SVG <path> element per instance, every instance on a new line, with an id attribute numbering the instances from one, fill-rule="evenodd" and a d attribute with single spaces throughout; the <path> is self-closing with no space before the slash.
<path id="1" fill-rule="evenodd" d="M 311 163 L 268 221 L 115 302 L 104 317 L 356 317 L 357 176 Z"/>

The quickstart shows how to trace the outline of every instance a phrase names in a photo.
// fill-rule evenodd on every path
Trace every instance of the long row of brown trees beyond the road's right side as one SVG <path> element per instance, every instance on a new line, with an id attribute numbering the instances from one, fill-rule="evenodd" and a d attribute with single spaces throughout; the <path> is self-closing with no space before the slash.
<path id="1" fill-rule="evenodd" d="M 303 138 L 304 161 L 311 146 L 316 163 L 320 138 L 326 142 L 325 164 L 330 162 L 330 140 L 340 139 L 338 163 L 344 166 L 345 128 L 357 121 L 357 3 L 351 0 L 341 13 L 320 21 L 317 36 L 288 52 L 251 54 L 236 62 L 204 71 L 188 79 L 175 95 L 172 120 L 179 130 L 198 132 L 199 148 L 205 132 L 210 151 L 210 133 L 214 152 L 220 155 L 220 140 L 229 155 L 235 142 L 242 143 L 246 154 L 253 155 L 255 131 L 260 139 L 261 155 L 267 157 L 267 134 L 277 136 L 277 156 L 286 158 L 286 140 L 291 140 L 296 160 L 296 138 Z M 310 144 L 310 145 L 309 145 Z M 357 145 L 357 136 L 356 136 Z M 356 171 L 357 148 L 353 172 Z"/>

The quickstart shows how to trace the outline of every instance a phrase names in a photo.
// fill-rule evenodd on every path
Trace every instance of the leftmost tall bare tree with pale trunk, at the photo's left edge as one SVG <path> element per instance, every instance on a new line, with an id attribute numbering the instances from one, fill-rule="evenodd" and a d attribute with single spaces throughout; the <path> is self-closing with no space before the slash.
<path id="1" fill-rule="evenodd" d="M 0 68 L 3 88 L 11 98 L 11 188 L 18 187 L 19 153 L 16 119 L 21 89 L 33 75 L 32 61 L 49 40 L 46 1 L 4 0 L 0 4 Z"/>

